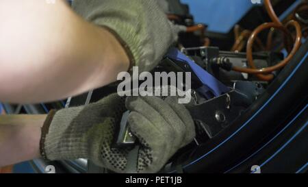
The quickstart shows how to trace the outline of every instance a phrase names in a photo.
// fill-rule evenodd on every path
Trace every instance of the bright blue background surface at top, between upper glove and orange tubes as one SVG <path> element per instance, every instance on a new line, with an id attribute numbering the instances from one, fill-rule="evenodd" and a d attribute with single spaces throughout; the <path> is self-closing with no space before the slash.
<path id="1" fill-rule="evenodd" d="M 209 31 L 228 33 L 253 7 L 250 0 L 181 0 L 190 5 L 197 23 L 209 25 Z"/>

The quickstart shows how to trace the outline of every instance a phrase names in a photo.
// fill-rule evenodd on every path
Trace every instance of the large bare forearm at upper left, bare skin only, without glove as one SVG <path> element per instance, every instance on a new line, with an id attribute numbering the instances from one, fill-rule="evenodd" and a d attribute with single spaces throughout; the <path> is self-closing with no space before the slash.
<path id="1" fill-rule="evenodd" d="M 63 99 L 110 84 L 127 71 L 129 60 L 116 38 L 63 1 L 21 3 L 0 5 L 5 28 L 0 31 L 0 101 Z M 5 10 L 13 8 L 13 16 L 7 16 Z"/>

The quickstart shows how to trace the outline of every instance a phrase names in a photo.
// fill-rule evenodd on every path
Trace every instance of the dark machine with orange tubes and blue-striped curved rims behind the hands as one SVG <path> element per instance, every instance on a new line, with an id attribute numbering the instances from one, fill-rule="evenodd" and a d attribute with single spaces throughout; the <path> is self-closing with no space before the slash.
<path id="1" fill-rule="evenodd" d="M 307 172 L 308 1 L 264 0 L 227 34 L 195 23 L 189 5 L 164 2 L 170 21 L 186 31 L 153 71 L 192 73 L 192 102 L 186 106 L 196 138 L 161 172 Z M 3 108 L 8 114 L 43 114 L 98 101 L 116 92 L 116 85 L 65 101 Z M 124 121 L 117 141 L 133 146 L 133 138 L 123 138 L 127 132 Z M 85 159 L 31 163 L 38 173 L 50 164 L 58 173 L 110 173 Z"/>

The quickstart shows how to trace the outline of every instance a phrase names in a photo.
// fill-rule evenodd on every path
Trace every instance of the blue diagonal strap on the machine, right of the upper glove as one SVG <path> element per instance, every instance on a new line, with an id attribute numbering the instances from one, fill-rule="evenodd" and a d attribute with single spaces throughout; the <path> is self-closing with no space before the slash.
<path id="1" fill-rule="evenodd" d="M 179 51 L 178 49 L 170 49 L 166 56 L 172 60 L 181 61 L 190 66 L 194 74 L 196 74 L 198 79 L 200 79 L 203 84 L 203 86 L 198 90 L 203 92 L 207 99 L 211 99 L 212 97 L 218 97 L 230 91 L 230 88 L 222 84 L 213 75 L 209 74 L 207 71 L 201 68 L 201 66 L 198 66 L 198 64 L 188 58 L 187 55 L 181 53 L 181 51 Z M 211 94 L 209 94 L 209 92 L 211 92 Z"/>

